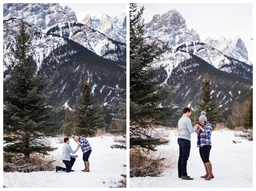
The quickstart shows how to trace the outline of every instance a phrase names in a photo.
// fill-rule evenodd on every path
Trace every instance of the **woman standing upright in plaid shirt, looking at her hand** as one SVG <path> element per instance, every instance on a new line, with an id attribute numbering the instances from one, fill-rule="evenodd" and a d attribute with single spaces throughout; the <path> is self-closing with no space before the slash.
<path id="1" fill-rule="evenodd" d="M 211 142 L 211 134 L 212 134 L 212 125 L 207 122 L 206 113 L 204 111 L 201 112 L 201 116 L 199 117 L 199 122 L 202 127 L 199 125 L 199 130 L 196 131 L 197 134 L 197 147 L 199 147 L 199 154 L 204 163 L 204 168 L 206 174 L 201 176 L 201 178 L 205 178 L 205 180 L 213 179 L 214 176 L 212 174 L 212 163 L 209 160 L 210 151 L 212 148 Z"/>

